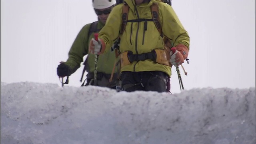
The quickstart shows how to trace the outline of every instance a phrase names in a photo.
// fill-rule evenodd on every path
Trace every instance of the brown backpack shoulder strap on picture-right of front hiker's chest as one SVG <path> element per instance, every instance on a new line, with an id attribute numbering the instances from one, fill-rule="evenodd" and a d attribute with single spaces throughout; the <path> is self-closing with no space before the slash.
<path id="1" fill-rule="evenodd" d="M 159 20 L 159 14 L 158 14 L 158 3 L 153 3 L 151 5 L 151 14 L 152 14 L 152 19 L 154 21 L 154 24 L 156 25 L 158 32 L 160 33 L 161 36 L 163 36 L 162 26 L 159 22 L 160 20 Z"/>

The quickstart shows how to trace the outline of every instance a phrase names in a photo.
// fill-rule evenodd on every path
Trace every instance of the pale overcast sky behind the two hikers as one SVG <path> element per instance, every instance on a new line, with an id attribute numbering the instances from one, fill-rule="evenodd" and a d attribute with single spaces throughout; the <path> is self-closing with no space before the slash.
<path id="1" fill-rule="evenodd" d="M 185 89 L 255 87 L 255 0 L 172 0 L 190 35 Z M 60 85 L 56 68 L 97 20 L 91 0 L 1 0 L 1 82 Z M 83 66 L 70 76 L 80 86 Z M 173 68 L 172 92 L 179 92 Z"/>

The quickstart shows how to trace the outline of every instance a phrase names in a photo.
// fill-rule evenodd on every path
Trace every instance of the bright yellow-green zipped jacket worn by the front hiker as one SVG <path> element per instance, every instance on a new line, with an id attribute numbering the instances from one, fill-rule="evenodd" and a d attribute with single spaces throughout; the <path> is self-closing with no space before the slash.
<path id="1" fill-rule="evenodd" d="M 125 0 L 130 7 L 128 12 L 128 20 L 137 18 L 152 19 L 151 8 L 152 1 L 148 4 L 136 6 L 134 0 Z M 163 2 L 158 2 L 158 11 L 160 23 L 162 26 L 163 34 L 177 44 L 184 44 L 189 48 L 190 38 L 188 32 L 183 28 L 172 6 Z M 99 32 L 100 39 L 104 40 L 107 52 L 112 46 L 113 42 L 119 37 L 119 31 L 122 22 L 122 7 L 119 4 L 113 8 L 108 20 Z M 160 36 L 154 22 L 147 22 L 147 30 L 144 31 L 144 22 L 127 22 L 125 31 L 120 35 L 120 52 L 132 51 L 133 54 L 142 54 L 151 52 L 154 49 L 163 49 L 164 42 Z M 104 52 L 104 53 L 105 53 Z M 171 76 L 171 68 L 166 65 L 158 64 L 152 60 L 144 60 L 139 62 L 132 62 L 121 68 L 122 71 L 162 71 Z"/>

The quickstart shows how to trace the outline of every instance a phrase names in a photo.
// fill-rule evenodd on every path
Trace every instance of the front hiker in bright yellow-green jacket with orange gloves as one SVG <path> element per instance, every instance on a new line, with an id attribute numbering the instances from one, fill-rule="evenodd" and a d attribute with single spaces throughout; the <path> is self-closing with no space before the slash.
<path id="1" fill-rule="evenodd" d="M 159 16 L 151 10 L 151 6 L 156 4 Z M 129 10 L 123 14 L 127 6 Z M 127 22 L 125 18 L 128 18 Z M 156 19 L 160 24 L 155 24 Z M 159 32 L 159 26 L 162 32 Z M 118 38 L 121 53 L 120 78 L 122 87 L 127 92 L 166 92 L 171 66 L 179 66 L 188 57 L 188 32 L 172 6 L 158 0 L 124 0 L 124 4 L 115 6 L 99 32 L 98 41 L 94 38 L 90 41 L 89 50 L 92 54 L 103 54 Z M 167 55 L 164 51 L 166 40 L 171 40 L 176 48 L 174 51 L 169 48 Z M 168 60 L 167 63 L 164 58 Z"/>

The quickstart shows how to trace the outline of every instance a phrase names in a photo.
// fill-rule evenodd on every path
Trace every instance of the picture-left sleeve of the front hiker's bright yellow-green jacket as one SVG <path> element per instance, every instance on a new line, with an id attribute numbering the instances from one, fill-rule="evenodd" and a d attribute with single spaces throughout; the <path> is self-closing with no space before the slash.
<path id="1" fill-rule="evenodd" d="M 106 49 L 104 53 L 110 50 L 115 40 L 119 36 L 121 25 L 122 4 L 115 6 L 110 12 L 105 26 L 100 30 L 98 38 L 104 40 Z"/>

